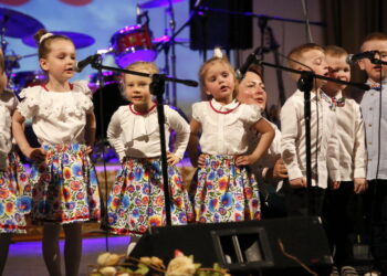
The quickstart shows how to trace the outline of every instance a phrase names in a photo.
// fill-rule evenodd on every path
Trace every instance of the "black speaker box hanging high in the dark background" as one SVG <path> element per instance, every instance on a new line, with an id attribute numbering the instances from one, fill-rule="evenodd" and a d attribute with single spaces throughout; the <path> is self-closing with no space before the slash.
<path id="1" fill-rule="evenodd" d="M 191 11 L 196 2 L 190 0 Z M 201 0 L 190 22 L 190 49 L 251 49 L 252 18 L 236 12 L 251 13 L 252 0 Z"/>

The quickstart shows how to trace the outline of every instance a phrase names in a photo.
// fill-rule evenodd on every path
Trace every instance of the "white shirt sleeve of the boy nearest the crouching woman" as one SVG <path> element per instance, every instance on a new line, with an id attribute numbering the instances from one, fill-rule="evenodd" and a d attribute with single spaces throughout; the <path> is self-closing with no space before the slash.
<path id="1" fill-rule="evenodd" d="M 302 178 L 295 148 L 300 134 L 299 116 L 292 98 L 287 99 L 281 109 L 281 155 L 287 169 L 289 180 Z"/>

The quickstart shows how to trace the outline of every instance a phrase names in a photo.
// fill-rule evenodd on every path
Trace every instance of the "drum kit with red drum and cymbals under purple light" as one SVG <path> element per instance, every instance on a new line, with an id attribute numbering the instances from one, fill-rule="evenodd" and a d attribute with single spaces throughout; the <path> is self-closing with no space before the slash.
<path id="1" fill-rule="evenodd" d="M 151 31 L 148 26 L 149 18 L 147 9 L 167 7 L 166 12 L 170 13 L 170 11 L 172 11 L 172 4 L 180 1 L 184 0 L 148 0 L 137 4 L 137 24 L 124 26 L 116 31 L 109 40 L 108 50 L 103 52 L 113 54 L 115 63 L 124 68 L 136 61 L 155 61 L 158 51 L 164 50 L 165 46 L 174 47 L 176 43 L 187 43 L 188 40 L 171 39 L 174 38 L 174 30 L 171 30 L 170 34 L 167 33 L 160 38 L 153 39 Z M 143 23 L 142 21 L 144 18 L 146 18 L 146 21 Z M 169 22 L 170 24 L 175 24 L 171 20 L 169 20 Z M 24 87 L 46 82 L 46 75 L 41 71 L 21 71 L 12 73 L 13 70 L 20 67 L 20 60 L 36 56 L 36 54 L 7 55 L 7 46 L 9 43 L 6 40 L 6 36 L 21 39 L 23 44 L 36 47 L 38 45 L 33 39 L 33 34 L 38 30 L 44 29 L 44 25 L 28 14 L 7 8 L 0 8 L 0 28 L 1 47 L 4 53 L 6 72 L 10 79 L 10 89 L 18 94 Z M 95 42 L 92 36 L 83 33 L 70 31 L 52 31 L 52 33 L 69 36 L 74 42 L 75 49 L 87 47 Z M 166 51 L 166 53 L 168 52 Z M 169 61 L 168 56 L 166 56 L 165 61 L 166 63 Z M 174 56 L 171 61 L 175 61 Z M 172 64 L 174 72 L 169 72 L 169 64 L 166 64 L 163 73 L 175 75 L 174 68 L 175 64 Z M 102 77 L 105 85 L 118 84 L 119 82 L 119 74 L 113 72 L 104 72 Z M 98 79 L 100 77 L 97 77 L 96 74 L 90 75 L 90 86 L 93 91 L 98 88 Z M 168 98 L 169 95 L 167 95 L 167 102 L 170 102 Z M 176 103 L 171 104 L 176 105 Z"/>

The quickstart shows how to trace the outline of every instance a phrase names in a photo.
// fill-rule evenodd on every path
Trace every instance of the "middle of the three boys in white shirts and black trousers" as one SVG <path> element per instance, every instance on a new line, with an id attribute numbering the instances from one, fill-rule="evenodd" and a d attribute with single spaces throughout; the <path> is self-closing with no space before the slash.
<path id="1" fill-rule="evenodd" d="M 330 77 L 349 82 L 351 66 L 346 62 L 347 52 L 338 46 L 325 47 L 325 57 L 330 66 Z M 357 275 L 353 267 L 351 234 L 357 221 L 356 206 L 359 193 L 367 189 L 365 130 L 360 106 L 343 95 L 346 85 L 328 82 L 323 86 L 323 98 L 336 114 L 339 141 L 341 187 L 327 190 L 325 194 L 325 219 L 331 246 L 335 247 L 334 262 L 342 275 L 349 272 Z"/>

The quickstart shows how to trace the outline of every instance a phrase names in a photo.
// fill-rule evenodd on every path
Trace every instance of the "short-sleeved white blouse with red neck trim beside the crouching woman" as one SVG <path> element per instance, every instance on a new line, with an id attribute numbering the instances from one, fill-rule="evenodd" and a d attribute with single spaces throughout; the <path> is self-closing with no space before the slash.
<path id="1" fill-rule="evenodd" d="M 248 151 L 248 131 L 262 118 L 255 105 L 237 100 L 222 106 L 215 99 L 192 105 L 192 117 L 201 124 L 200 147 L 208 155 L 243 155 Z"/>

